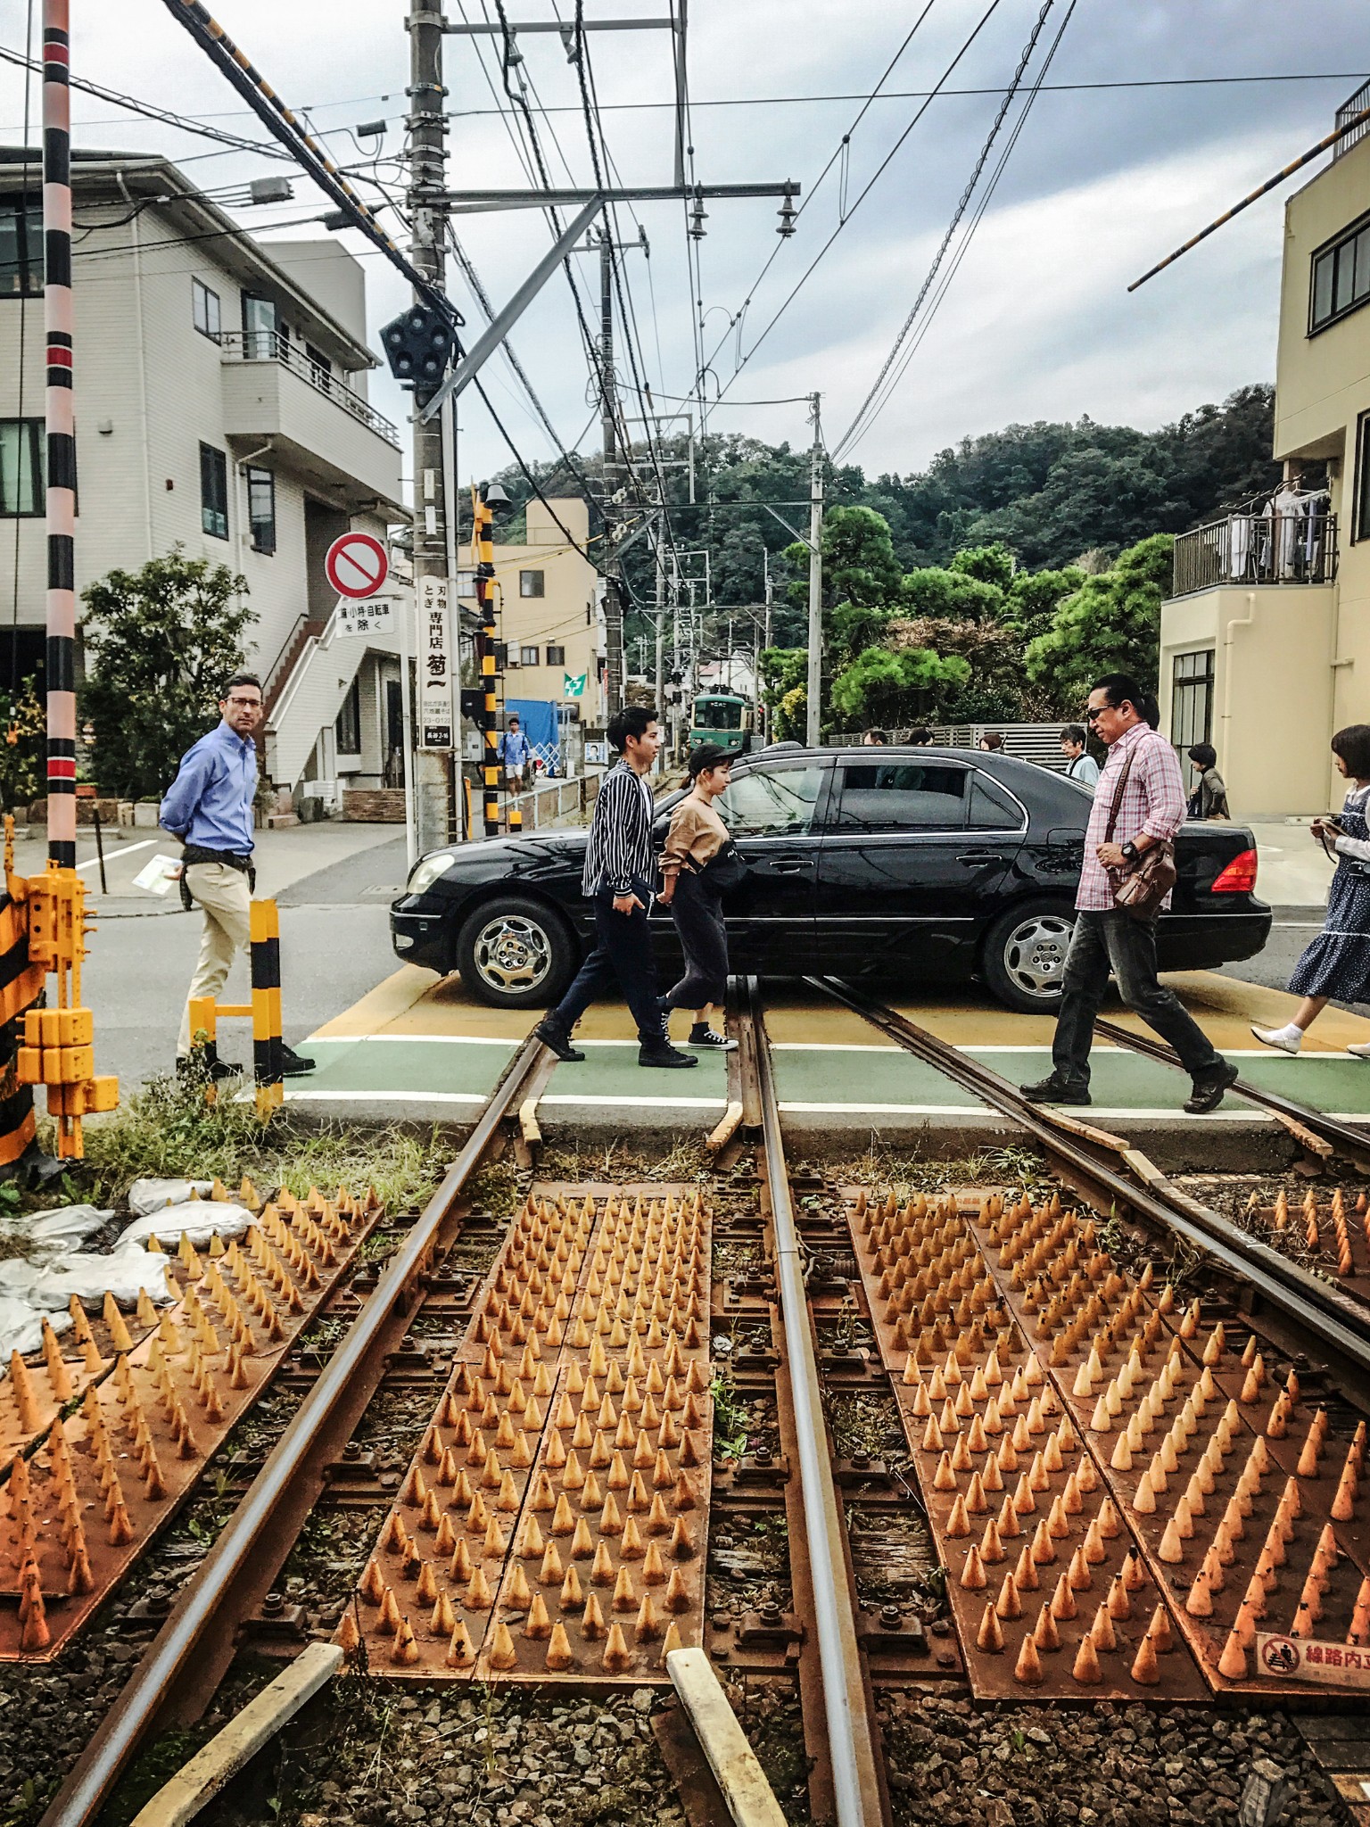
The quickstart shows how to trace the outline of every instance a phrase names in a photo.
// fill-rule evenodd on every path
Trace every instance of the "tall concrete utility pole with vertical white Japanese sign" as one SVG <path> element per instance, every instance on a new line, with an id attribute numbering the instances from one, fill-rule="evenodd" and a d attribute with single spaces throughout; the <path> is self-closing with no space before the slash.
<path id="1" fill-rule="evenodd" d="M 418 274 L 444 290 L 444 239 L 448 197 L 448 122 L 442 113 L 442 13 L 429 0 L 409 0 L 409 259 Z M 415 303 L 424 300 L 415 290 Z M 448 502 L 455 488 L 444 482 L 444 417 L 426 420 L 415 407 L 415 601 L 426 577 L 448 583 Z M 455 415 L 453 415 L 455 418 Z M 435 850 L 460 835 L 460 610 L 448 590 L 448 654 L 453 674 L 453 753 L 416 749 L 406 756 L 415 769 L 415 818 L 418 850 Z M 418 665 L 422 667 L 422 650 Z M 404 681 L 406 692 L 409 680 Z"/>

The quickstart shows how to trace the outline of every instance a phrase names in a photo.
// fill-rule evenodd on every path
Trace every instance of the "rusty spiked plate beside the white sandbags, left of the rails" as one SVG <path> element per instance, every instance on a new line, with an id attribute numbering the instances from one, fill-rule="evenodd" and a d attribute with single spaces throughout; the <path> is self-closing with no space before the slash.
<path id="1" fill-rule="evenodd" d="M 0 1659 L 49 1661 L 142 1555 L 329 1297 L 380 1208 L 340 1193 L 265 1206 L 243 1242 L 183 1244 L 179 1299 L 90 1365 L 0 1494 Z M 126 1336 L 124 1336 L 126 1337 Z M 93 1343 L 93 1336 L 91 1336 Z M 97 1346 L 99 1350 L 99 1346 Z"/>

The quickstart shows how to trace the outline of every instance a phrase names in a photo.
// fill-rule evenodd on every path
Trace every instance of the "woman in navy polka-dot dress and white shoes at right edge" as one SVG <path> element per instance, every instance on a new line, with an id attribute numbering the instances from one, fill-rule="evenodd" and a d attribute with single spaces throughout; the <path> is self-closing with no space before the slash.
<path id="1" fill-rule="evenodd" d="M 1328 888 L 1328 917 L 1290 977 L 1290 990 L 1302 1001 L 1282 1029 L 1251 1032 L 1266 1047 L 1299 1052 L 1302 1038 L 1326 1005 L 1370 1001 L 1370 723 L 1352 723 L 1332 738 L 1337 769 L 1355 786 L 1339 818 L 1313 818 L 1313 837 L 1332 842 L 1337 873 Z M 1370 1060 L 1370 1043 L 1348 1047 L 1357 1060 Z"/>

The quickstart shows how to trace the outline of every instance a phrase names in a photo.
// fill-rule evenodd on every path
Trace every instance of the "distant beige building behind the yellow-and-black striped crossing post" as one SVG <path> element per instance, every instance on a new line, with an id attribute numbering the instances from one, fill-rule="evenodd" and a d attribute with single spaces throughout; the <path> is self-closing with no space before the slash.
<path id="1" fill-rule="evenodd" d="M 526 544 L 495 546 L 504 698 L 537 698 L 561 705 L 568 720 L 603 723 L 603 586 L 575 550 L 588 548 L 590 510 L 577 499 L 530 501 L 526 533 Z M 458 572 L 457 596 L 475 610 L 475 570 Z"/>

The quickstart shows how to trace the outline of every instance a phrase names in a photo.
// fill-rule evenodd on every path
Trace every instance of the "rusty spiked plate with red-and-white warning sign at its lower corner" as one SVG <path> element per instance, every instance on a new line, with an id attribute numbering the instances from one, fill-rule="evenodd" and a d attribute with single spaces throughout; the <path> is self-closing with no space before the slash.
<path id="1" fill-rule="evenodd" d="M 1246 1323 L 1118 1273 L 1058 1202 L 968 1222 L 1209 1686 L 1257 1690 L 1260 1624 L 1370 1646 L 1365 1421 L 1280 1385 Z"/>

